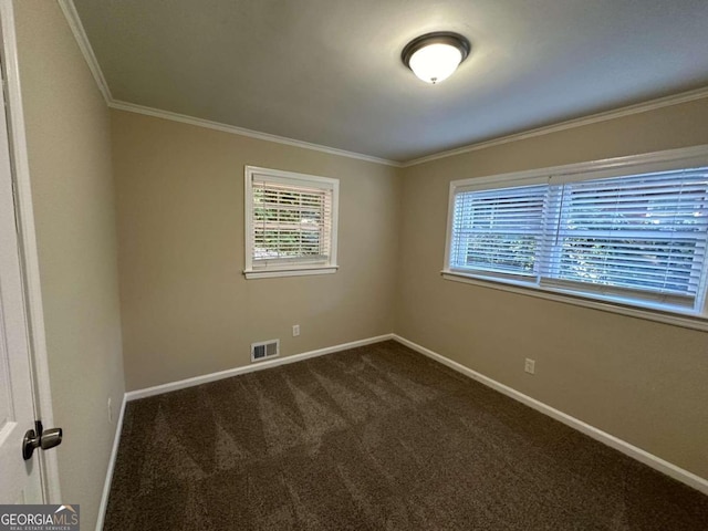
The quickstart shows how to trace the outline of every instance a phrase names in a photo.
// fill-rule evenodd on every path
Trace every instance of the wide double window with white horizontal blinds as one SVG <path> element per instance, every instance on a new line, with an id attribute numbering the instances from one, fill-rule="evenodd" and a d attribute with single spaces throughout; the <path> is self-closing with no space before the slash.
<path id="1" fill-rule="evenodd" d="M 446 278 L 708 317 L 706 148 L 455 181 L 448 233 Z"/>

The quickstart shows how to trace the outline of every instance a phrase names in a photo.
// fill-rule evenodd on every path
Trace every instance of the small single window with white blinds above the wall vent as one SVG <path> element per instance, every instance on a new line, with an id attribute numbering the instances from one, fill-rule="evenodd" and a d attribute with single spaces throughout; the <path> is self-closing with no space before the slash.
<path id="1" fill-rule="evenodd" d="M 246 278 L 336 271 L 339 180 L 246 167 Z"/>

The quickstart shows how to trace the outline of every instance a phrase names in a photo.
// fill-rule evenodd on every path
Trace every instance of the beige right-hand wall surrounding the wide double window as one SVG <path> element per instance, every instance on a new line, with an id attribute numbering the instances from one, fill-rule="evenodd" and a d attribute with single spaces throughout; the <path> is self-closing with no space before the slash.
<path id="1" fill-rule="evenodd" d="M 708 478 L 708 333 L 440 277 L 450 180 L 708 144 L 706 124 L 700 100 L 406 168 L 396 333 Z"/>

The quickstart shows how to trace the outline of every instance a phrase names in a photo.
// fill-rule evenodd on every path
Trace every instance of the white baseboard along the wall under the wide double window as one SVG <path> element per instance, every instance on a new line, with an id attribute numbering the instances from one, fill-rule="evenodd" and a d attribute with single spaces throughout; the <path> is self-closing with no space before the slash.
<path id="1" fill-rule="evenodd" d="M 452 368 L 454 371 L 457 371 L 458 373 L 462 373 L 464 375 L 469 376 L 470 378 L 476 379 L 477 382 L 485 384 L 486 386 L 491 387 L 492 389 L 498 391 L 499 393 L 502 393 L 520 402 L 521 404 L 532 407 L 533 409 L 541 412 L 544 415 L 548 415 L 549 417 L 554 418 L 555 420 L 559 420 L 565 424 L 566 426 L 570 426 L 571 428 L 576 429 L 577 431 L 581 431 L 582 434 L 585 434 L 592 437 L 593 439 L 598 440 L 600 442 L 603 442 L 610 446 L 611 448 L 614 448 L 615 450 L 618 450 L 622 454 L 629 456 L 633 459 L 636 459 L 637 461 L 643 462 L 644 465 L 647 465 L 648 467 L 652 467 L 653 469 L 658 470 L 659 472 L 663 472 L 666 476 L 669 476 L 680 481 L 681 483 L 686 483 L 689 487 L 693 487 L 694 489 L 702 492 L 704 494 L 708 494 L 708 479 L 701 478 L 700 476 L 696 476 L 695 473 L 689 472 L 688 470 L 684 470 L 683 468 L 677 467 L 676 465 L 673 465 L 662 459 L 660 457 L 649 454 L 648 451 L 645 451 L 642 448 L 637 448 L 636 446 L 631 445 L 629 442 L 622 440 L 615 437 L 614 435 L 610 435 L 606 431 L 603 431 L 602 429 L 595 428 L 590 424 L 583 423 L 582 420 L 575 417 L 572 417 L 559 409 L 555 409 L 546 404 L 543 404 L 542 402 L 539 402 L 535 398 L 531 398 L 530 396 L 524 395 L 523 393 L 519 393 L 518 391 L 504 384 L 500 384 L 496 379 L 485 376 L 483 374 L 480 374 L 477 371 L 472 371 L 471 368 L 468 368 L 465 365 L 454 362 L 452 360 L 449 360 L 442 356 L 441 354 L 438 354 L 437 352 L 433 352 L 431 350 L 426 348 L 425 346 L 420 346 L 417 343 L 414 343 L 413 341 L 408 341 L 405 337 L 402 337 L 397 334 L 393 334 L 393 339 L 398 343 L 406 345 L 407 347 L 413 348 L 414 351 L 419 352 L 420 354 L 424 354 L 425 356 L 428 356 L 437 362 L 440 362 L 442 365 L 447 365 L 448 367 Z"/>

